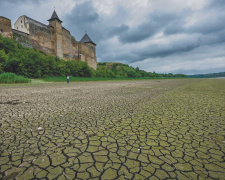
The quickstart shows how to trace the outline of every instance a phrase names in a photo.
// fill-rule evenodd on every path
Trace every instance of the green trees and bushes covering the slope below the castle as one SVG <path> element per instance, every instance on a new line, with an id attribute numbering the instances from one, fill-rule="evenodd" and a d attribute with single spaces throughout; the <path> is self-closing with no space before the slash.
<path id="1" fill-rule="evenodd" d="M 121 63 L 98 63 L 97 70 L 83 61 L 65 61 L 34 49 L 22 47 L 0 34 L 0 73 L 11 72 L 28 78 L 48 76 L 74 77 L 186 77 L 183 74 L 157 74 Z"/>

